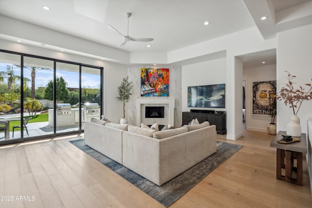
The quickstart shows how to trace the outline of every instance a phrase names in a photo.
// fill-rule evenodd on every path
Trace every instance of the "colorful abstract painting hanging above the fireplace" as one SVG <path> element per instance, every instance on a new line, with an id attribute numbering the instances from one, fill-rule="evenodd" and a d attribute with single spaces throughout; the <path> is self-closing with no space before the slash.
<path id="1" fill-rule="evenodd" d="M 168 97 L 169 69 L 141 68 L 141 96 Z"/>

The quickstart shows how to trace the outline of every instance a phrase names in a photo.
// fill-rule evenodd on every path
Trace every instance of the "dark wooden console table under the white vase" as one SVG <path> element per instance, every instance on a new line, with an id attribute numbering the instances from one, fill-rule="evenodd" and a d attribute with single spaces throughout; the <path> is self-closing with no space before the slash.
<path id="1" fill-rule="evenodd" d="M 307 138 L 305 133 L 301 133 L 300 142 L 290 144 L 280 144 L 282 135 L 286 132 L 280 131 L 270 143 L 270 147 L 276 148 L 276 179 L 302 186 L 302 153 L 307 153 Z M 293 166 L 293 154 L 297 155 L 297 167 Z M 285 176 L 282 175 L 285 169 Z M 297 172 L 297 178 L 292 178 L 292 172 Z"/>

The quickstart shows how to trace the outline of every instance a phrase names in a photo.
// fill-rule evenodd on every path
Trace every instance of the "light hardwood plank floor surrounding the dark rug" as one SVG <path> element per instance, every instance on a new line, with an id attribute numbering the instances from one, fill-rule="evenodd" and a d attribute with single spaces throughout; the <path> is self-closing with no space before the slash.
<path id="1" fill-rule="evenodd" d="M 163 207 L 68 142 L 78 138 L 83 134 L 0 146 L 0 197 L 13 197 L 0 208 Z M 244 147 L 171 208 L 311 208 L 306 160 L 302 187 L 276 180 L 272 139 L 263 132 L 246 131 L 236 141 L 218 134 L 219 141 Z"/>

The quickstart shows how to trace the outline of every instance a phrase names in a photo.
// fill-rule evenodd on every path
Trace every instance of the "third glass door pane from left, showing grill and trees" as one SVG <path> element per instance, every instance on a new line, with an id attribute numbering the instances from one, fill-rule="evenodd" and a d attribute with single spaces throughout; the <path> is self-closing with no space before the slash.
<path id="1" fill-rule="evenodd" d="M 54 99 L 57 133 L 79 131 L 79 65 L 57 62 Z"/>

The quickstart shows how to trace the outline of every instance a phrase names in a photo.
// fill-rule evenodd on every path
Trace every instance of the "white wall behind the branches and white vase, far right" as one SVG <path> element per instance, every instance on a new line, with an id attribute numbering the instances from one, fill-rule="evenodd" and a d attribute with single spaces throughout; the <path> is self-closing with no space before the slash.
<path id="1" fill-rule="evenodd" d="M 296 86 L 312 84 L 312 24 L 277 34 L 277 91 L 287 81 L 285 71 L 296 76 Z M 306 86 L 305 88 L 308 88 Z M 277 131 L 286 131 L 292 109 L 282 101 L 277 101 Z M 300 118 L 301 132 L 307 133 L 306 115 L 312 115 L 312 100 L 304 101 L 297 116 Z"/>

